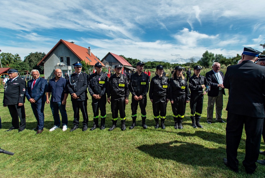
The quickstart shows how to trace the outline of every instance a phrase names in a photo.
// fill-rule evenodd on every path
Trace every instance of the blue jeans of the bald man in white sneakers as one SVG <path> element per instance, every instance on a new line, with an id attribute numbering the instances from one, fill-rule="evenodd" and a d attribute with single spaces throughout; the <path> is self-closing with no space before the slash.
<path id="1" fill-rule="evenodd" d="M 61 101 L 60 102 L 51 101 L 50 106 L 51 106 L 52 116 L 53 116 L 53 119 L 54 119 L 54 125 L 59 127 L 60 124 L 61 124 L 60 116 L 59 116 L 59 110 L 60 110 L 60 113 L 61 113 L 61 116 L 62 116 L 63 126 L 67 125 L 68 124 L 68 117 L 67 117 L 65 105 L 63 105 Z"/>

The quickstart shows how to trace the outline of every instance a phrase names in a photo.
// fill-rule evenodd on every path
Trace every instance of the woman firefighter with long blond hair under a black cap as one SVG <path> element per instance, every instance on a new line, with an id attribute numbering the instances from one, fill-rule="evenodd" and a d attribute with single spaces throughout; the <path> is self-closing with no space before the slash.
<path id="1" fill-rule="evenodd" d="M 186 103 L 190 101 L 190 90 L 186 78 L 182 75 L 183 68 L 176 66 L 170 78 L 170 103 L 174 117 L 174 128 L 183 129 L 182 120 L 185 115 Z"/>

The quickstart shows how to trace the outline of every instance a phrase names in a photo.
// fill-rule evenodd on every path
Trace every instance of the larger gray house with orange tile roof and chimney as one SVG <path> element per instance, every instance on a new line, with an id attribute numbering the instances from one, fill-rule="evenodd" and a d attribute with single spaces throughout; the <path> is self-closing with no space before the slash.
<path id="1" fill-rule="evenodd" d="M 76 62 L 85 61 L 90 63 L 91 66 L 95 66 L 95 63 L 102 63 L 93 53 L 91 53 L 90 47 L 84 48 L 82 46 L 74 44 L 74 42 L 68 42 L 60 40 L 46 56 L 38 63 L 38 66 L 44 66 L 44 76 L 46 79 L 53 78 L 55 69 L 61 69 L 64 73 L 72 73 L 74 66 L 72 64 Z M 105 66 L 102 63 L 102 66 Z"/>

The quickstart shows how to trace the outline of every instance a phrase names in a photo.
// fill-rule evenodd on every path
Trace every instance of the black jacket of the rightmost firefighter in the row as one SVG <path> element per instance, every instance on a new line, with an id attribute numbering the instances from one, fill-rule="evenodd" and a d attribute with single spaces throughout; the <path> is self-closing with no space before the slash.
<path id="1" fill-rule="evenodd" d="M 197 77 L 195 74 L 193 74 L 191 78 L 189 79 L 189 89 L 191 93 L 198 93 L 198 94 L 202 93 L 203 88 L 201 85 L 206 86 L 206 89 L 205 89 L 206 92 L 210 90 L 210 85 L 207 82 L 205 76 L 199 75 L 199 77 Z"/>

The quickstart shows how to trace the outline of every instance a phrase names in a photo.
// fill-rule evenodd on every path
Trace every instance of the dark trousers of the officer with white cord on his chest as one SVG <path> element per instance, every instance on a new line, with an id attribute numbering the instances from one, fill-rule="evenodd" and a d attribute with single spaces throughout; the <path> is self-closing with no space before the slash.
<path id="1" fill-rule="evenodd" d="M 72 101 L 73 105 L 73 112 L 74 112 L 74 120 L 73 120 L 73 125 L 78 126 L 79 125 L 79 110 L 81 110 L 82 115 L 83 115 L 83 127 L 87 126 L 88 123 L 88 115 L 87 115 L 87 100 L 84 101 L 77 101 L 73 100 Z"/>

